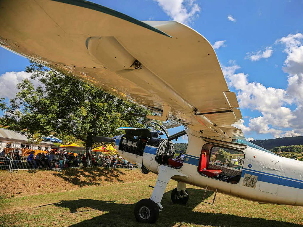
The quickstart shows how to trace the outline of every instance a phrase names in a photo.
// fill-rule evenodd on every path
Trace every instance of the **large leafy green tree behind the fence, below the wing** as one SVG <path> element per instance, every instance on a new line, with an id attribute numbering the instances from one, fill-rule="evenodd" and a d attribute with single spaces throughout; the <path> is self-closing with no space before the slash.
<path id="1" fill-rule="evenodd" d="M 151 114 L 142 107 L 118 99 L 111 94 L 75 78 L 31 61 L 26 67 L 34 87 L 28 80 L 18 84 L 19 92 L 9 104 L 0 100 L 4 111 L 1 124 L 8 129 L 55 136 L 70 142 L 72 138 L 92 146 L 94 136 L 114 136 L 121 126 L 143 127 L 138 117 L 129 112 Z"/>

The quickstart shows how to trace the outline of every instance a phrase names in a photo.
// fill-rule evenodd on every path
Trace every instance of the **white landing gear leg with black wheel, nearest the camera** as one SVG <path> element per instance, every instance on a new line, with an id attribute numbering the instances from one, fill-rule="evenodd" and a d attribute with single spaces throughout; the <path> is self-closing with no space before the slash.
<path id="1" fill-rule="evenodd" d="M 188 177 L 177 169 L 160 165 L 156 185 L 150 199 L 141 199 L 135 206 L 135 218 L 138 222 L 153 223 L 157 221 L 159 211 L 163 209 L 160 202 L 166 186 L 173 176 Z"/>

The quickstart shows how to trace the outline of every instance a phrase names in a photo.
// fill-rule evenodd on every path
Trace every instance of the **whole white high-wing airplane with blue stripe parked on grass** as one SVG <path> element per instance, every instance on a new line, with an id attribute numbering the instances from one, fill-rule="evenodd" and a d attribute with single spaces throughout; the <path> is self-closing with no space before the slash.
<path id="1" fill-rule="evenodd" d="M 135 205 L 138 222 L 156 222 L 170 179 L 177 181 L 171 200 L 178 204 L 188 201 L 190 184 L 261 204 L 303 206 L 303 162 L 245 140 L 234 126 L 242 119 L 236 94 L 211 44 L 192 28 L 138 21 L 82 0 L 2 0 L 0 45 L 156 113 L 135 116 L 184 126 L 165 139 L 129 127 L 115 139 L 95 138 L 114 141 L 142 173 L 158 174 L 150 198 Z M 186 152 L 176 158 L 172 141 L 185 135 Z M 237 159 L 237 168 L 227 159 Z"/>

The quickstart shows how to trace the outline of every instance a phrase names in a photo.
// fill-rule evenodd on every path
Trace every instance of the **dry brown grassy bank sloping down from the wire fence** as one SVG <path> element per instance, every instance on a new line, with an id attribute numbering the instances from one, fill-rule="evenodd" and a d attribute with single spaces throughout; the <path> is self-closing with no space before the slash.
<path id="1" fill-rule="evenodd" d="M 156 179 L 153 173 L 134 169 L 77 168 L 53 170 L 0 171 L 0 198 L 67 191 L 85 186 L 103 186 Z"/>

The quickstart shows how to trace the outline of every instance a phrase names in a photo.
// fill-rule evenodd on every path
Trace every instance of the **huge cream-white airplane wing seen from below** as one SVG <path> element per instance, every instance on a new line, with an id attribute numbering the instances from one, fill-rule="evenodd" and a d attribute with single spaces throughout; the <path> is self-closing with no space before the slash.
<path id="1" fill-rule="evenodd" d="M 201 136 L 244 138 L 211 44 L 175 21 L 138 21 L 82 0 L 0 2 L 0 45 Z M 157 118 L 158 117 L 158 118 Z"/>

